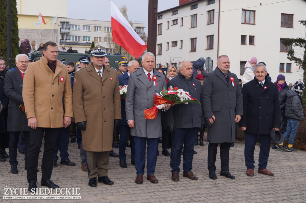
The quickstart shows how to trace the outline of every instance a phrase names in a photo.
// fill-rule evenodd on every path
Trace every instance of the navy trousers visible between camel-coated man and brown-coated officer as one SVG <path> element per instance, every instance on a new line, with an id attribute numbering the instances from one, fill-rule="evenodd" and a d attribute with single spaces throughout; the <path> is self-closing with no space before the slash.
<path id="1" fill-rule="evenodd" d="M 59 131 L 59 136 L 58 140 L 54 146 L 54 157 L 53 160 L 57 161 L 58 160 L 58 149 L 60 152 L 60 157 L 61 161 L 65 161 L 68 159 L 68 144 L 69 144 L 69 126 L 67 128 L 62 127 L 61 130 Z"/>

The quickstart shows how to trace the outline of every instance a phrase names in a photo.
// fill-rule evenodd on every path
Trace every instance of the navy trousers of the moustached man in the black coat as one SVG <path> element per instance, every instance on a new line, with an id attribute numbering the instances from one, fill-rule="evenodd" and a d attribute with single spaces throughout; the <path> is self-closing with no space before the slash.
<path id="1" fill-rule="evenodd" d="M 254 150 L 258 134 L 245 133 L 244 141 L 244 159 L 247 169 L 254 169 Z M 268 158 L 271 147 L 271 139 L 269 134 L 259 134 L 260 150 L 258 158 L 258 169 L 267 168 Z"/>

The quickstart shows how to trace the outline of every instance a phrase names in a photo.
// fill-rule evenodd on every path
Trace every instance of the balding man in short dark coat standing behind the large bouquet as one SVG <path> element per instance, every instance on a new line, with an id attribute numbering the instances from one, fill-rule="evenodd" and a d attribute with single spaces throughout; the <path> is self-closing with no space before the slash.
<path id="1" fill-rule="evenodd" d="M 177 87 L 190 93 L 190 96 L 198 99 L 202 103 L 202 87 L 201 82 L 196 80 L 192 74 L 192 64 L 189 61 L 180 63 L 178 76 L 167 82 L 167 87 Z M 198 178 L 193 175 L 192 159 L 194 140 L 198 135 L 199 129 L 204 128 L 204 117 L 201 104 L 188 103 L 177 104 L 170 107 L 166 113 L 167 126 L 172 135 L 172 147 L 170 156 L 170 166 L 172 169 L 173 181 L 179 181 L 179 172 L 181 164 L 181 150 L 183 149 L 183 177 L 192 180 Z"/>

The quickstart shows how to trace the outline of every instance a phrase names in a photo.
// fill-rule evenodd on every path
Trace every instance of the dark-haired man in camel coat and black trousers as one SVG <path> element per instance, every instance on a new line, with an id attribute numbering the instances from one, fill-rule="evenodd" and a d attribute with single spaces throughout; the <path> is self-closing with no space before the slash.
<path id="1" fill-rule="evenodd" d="M 41 186 L 59 188 L 51 180 L 54 145 L 60 128 L 66 128 L 73 117 L 72 93 L 67 67 L 57 60 L 58 48 L 54 42 L 43 45 L 43 56 L 30 63 L 24 75 L 23 101 L 30 129 L 27 177 L 29 191 L 36 191 L 39 148 L 45 132 L 45 147 L 41 165 Z M 64 99 L 65 114 L 63 111 Z"/>

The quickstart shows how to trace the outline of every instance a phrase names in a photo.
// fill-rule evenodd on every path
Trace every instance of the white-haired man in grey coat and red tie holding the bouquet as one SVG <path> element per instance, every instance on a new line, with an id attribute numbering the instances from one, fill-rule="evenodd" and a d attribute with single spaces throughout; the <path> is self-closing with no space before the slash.
<path id="1" fill-rule="evenodd" d="M 143 67 L 130 74 L 125 97 L 125 114 L 131 128 L 131 136 L 135 140 L 135 183 L 143 183 L 146 144 L 147 144 L 147 180 L 158 183 L 154 176 L 158 150 L 158 138 L 162 136 L 161 114 L 156 119 L 145 119 L 144 110 L 153 107 L 155 93 L 166 88 L 165 76 L 153 70 L 155 56 L 151 52 L 144 53 L 141 64 Z M 168 109 L 166 105 L 163 109 Z"/>

